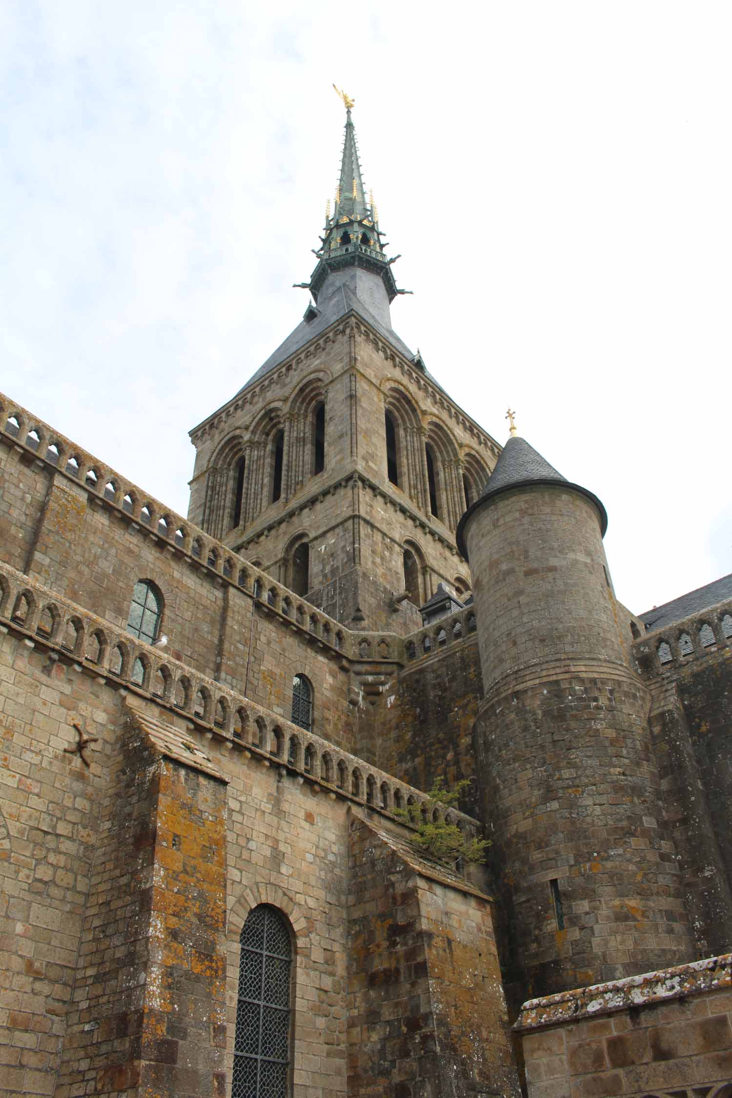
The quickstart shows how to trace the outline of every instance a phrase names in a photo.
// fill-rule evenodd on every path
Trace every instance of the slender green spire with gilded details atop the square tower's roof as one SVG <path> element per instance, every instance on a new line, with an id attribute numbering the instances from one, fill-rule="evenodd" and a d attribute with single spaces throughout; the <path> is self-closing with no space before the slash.
<path id="1" fill-rule="evenodd" d="M 318 265 L 311 274 L 309 282 L 300 282 L 297 285 L 309 290 L 317 302 L 318 294 L 324 292 L 327 296 L 328 291 L 334 288 L 335 282 L 330 276 L 344 271 L 346 273 L 339 281 L 342 283 L 348 277 L 351 290 L 360 300 L 368 303 L 370 311 L 386 327 L 391 328 L 390 303 L 397 293 L 410 291 L 396 288 L 392 264 L 398 256 L 387 259 L 384 255 L 382 245 L 384 234 L 379 228 L 376 208 L 371 198 L 367 200 L 356 127 L 351 115 L 353 100 L 341 91 L 338 91 L 338 94 L 346 107 L 346 130 L 335 208 L 333 216 L 326 214 L 320 247 L 315 251 Z M 351 269 L 350 274 L 348 268 Z M 375 280 L 373 276 L 376 276 Z M 326 282 L 328 284 L 324 290 Z"/>

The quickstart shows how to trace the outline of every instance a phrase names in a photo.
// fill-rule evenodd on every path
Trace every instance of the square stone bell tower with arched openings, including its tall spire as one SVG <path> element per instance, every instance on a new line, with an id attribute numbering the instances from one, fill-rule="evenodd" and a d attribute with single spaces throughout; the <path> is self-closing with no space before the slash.
<path id="1" fill-rule="evenodd" d="M 397 289 L 352 100 L 300 324 L 191 432 L 189 517 L 354 629 L 406 634 L 466 590 L 455 527 L 498 456 L 392 327 Z"/>

